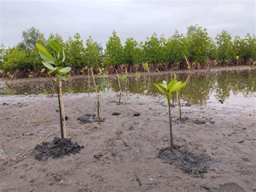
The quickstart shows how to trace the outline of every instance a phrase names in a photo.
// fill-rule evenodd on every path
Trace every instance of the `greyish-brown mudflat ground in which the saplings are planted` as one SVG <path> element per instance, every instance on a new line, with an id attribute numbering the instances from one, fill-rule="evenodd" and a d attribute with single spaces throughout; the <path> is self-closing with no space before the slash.
<path id="1" fill-rule="evenodd" d="M 116 93 L 101 96 L 104 122 L 80 124 L 79 116 L 96 113 L 96 95 L 65 95 L 68 135 L 84 148 L 38 161 L 31 146 L 58 131 L 57 98 L 0 96 L 0 191 L 256 191 L 255 107 L 184 105 L 181 121 L 172 108 L 176 145 L 219 161 L 192 177 L 157 157 L 169 146 L 165 100 L 131 94 L 123 105 L 113 101 Z"/>

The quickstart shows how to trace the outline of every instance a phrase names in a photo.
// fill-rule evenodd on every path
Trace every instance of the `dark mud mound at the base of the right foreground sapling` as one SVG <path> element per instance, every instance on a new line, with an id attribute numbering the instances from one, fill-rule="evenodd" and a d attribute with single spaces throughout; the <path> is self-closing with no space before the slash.
<path id="1" fill-rule="evenodd" d="M 186 148 L 177 148 L 173 152 L 169 147 L 161 148 L 157 157 L 174 164 L 192 177 L 203 177 L 203 174 L 207 173 L 207 169 L 211 165 L 219 163 L 219 161 L 213 161 L 204 154 L 194 155 Z"/>

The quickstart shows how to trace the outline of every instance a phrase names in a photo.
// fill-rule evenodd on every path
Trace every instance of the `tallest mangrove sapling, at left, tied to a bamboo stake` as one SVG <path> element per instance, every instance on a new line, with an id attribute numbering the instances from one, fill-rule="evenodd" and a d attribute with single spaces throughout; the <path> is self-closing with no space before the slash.
<path id="1" fill-rule="evenodd" d="M 71 67 L 62 67 L 61 64 L 65 60 L 65 53 L 63 51 L 63 58 L 60 59 L 60 47 L 57 43 L 50 41 L 50 46 L 53 50 L 53 56 L 40 44 L 36 44 L 39 55 L 41 56 L 43 65 L 50 71 L 48 74 L 56 72 L 54 80 L 57 82 L 57 93 L 58 93 L 58 104 L 59 104 L 59 121 L 60 121 L 60 133 L 62 138 L 66 138 L 66 121 L 65 121 L 65 110 L 64 101 L 62 94 L 62 80 L 66 81 L 68 78 L 66 75 L 71 70 Z M 52 66 L 53 65 L 53 66 Z"/>

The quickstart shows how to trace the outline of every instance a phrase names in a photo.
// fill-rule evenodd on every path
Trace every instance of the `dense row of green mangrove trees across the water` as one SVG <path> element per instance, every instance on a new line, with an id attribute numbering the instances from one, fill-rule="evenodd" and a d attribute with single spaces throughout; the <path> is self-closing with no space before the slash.
<path id="1" fill-rule="evenodd" d="M 50 41 L 59 44 L 65 52 L 65 66 L 75 69 L 85 67 L 105 67 L 119 65 L 166 64 L 187 67 L 187 61 L 194 65 L 207 65 L 210 61 L 216 65 L 252 64 L 256 60 L 255 35 L 247 33 L 245 37 L 231 37 L 223 30 L 213 40 L 207 29 L 198 25 L 189 26 L 185 35 L 176 31 L 173 36 L 165 38 L 153 33 L 145 42 L 137 42 L 127 38 L 121 43 L 116 31 L 103 46 L 91 37 L 83 42 L 79 33 L 69 37 L 66 42 L 58 34 L 51 33 L 45 38 L 36 28 L 22 32 L 22 41 L 14 47 L 0 47 L 0 69 L 4 71 L 36 70 L 43 64 L 39 58 L 35 44 L 39 43 L 50 50 Z M 52 53 L 53 54 L 53 53 Z M 62 53 L 60 53 L 62 54 Z M 186 61 L 187 60 L 187 61 Z"/>

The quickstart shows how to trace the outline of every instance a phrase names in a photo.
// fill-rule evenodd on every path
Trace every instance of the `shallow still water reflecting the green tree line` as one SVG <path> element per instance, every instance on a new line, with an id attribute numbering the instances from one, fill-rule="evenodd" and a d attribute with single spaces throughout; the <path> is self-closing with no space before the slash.
<path id="1" fill-rule="evenodd" d="M 181 99 L 192 104 L 206 104 L 213 98 L 226 100 L 235 95 L 244 95 L 244 97 L 255 97 L 256 92 L 256 71 L 221 71 L 211 73 L 192 73 L 177 74 L 181 81 L 188 81 L 186 88 L 181 90 Z M 163 80 L 170 80 L 171 74 L 154 75 L 151 77 L 142 76 L 139 78 L 130 77 L 127 88 L 132 93 L 158 95 L 157 88 L 152 83 L 160 83 Z M 99 81 L 99 79 L 96 79 Z M 119 91 L 117 79 L 109 78 L 109 89 L 114 92 Z M 121 82 L 123 91 L 125 82 Z M 94 92 L 92 83 L 89 84 L 87 79 L 73 79 L 65 82 L 63 92 L 69 93 L 90 93 Z M 0 84 L 0 94 L 52 94 L 52 86 L 49 81 Z M 212 97 L 214 95 L 214 97 Z M 175 94 L 174 94 L 175 96 Z"/>

